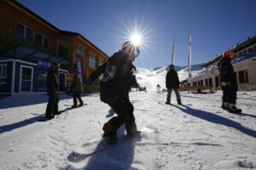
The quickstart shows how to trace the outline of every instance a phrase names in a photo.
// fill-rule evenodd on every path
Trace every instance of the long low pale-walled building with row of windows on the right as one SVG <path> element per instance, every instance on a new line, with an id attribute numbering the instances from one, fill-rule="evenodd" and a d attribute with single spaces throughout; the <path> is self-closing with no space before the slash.
<path id="1" fill-rule="evenodd" d="M 248 37 L 246 41 L 237 43 L 235 48 L 231 48 L 235 53 L 232 60 L 239 91 L 256 90 L 256 36 Z M 218 54 L 203 65 L 201 73 L 181 83 L 181 90 L 192 90 L 201 92 L 202 90 L 216 90 L 220 88 L 218 77 L 218 61 L 222 54 Z"/>

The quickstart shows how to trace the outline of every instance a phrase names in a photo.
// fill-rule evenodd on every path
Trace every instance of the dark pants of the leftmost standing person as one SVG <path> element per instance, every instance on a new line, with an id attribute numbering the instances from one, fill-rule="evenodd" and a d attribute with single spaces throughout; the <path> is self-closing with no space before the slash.
<path id="1" fill-rule="evenodd" d="M 59 110 L 58 103 L 59 103 L 59 95 L 49 94 L 45 117 L 50 118 L 51 116 L 58 114 L 58 110 Z"/>

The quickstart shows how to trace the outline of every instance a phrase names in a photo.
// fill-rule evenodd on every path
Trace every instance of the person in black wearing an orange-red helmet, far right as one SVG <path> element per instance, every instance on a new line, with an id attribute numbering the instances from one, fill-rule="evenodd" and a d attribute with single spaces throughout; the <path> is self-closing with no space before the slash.
<path id="1" fill-rule="evenodd" d="M 241 109 L 236 108 L 236 91 L 237 80 L 236 72 L 234 71 L 231 59 L 234 53 L 227 51 L 223 54 L 223 58 L 218 62 L 218 71 L 220 78 L 220 85 L 223 90 L 222 108 L 230 112 L 241 112 Z"/>

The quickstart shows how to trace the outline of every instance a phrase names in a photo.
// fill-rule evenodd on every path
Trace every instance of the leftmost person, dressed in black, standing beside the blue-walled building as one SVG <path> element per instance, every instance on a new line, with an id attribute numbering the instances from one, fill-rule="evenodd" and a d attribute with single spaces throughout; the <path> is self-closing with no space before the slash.
<path id="1" fill-rule="evenodd" d="M 45 120 L 50 120 L 58 114 L 58 103 L 59 103 L 59 81 L 57 77 L 57 71 L 60 68 L 59 64 L 53 64 L 47 73 L 47 94 L 49 96 Z"/>

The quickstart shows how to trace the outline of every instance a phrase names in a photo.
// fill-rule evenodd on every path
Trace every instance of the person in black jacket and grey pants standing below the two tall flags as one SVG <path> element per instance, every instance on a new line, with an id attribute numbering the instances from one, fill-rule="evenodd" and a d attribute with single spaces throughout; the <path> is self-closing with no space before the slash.
<path id="1" fill-rule="evenodd" d="M 172 94 L 172 89 L 174 90 L 176 94 L 176 99 L 177 99 L 177 104 L 182 105 L 180 95 L 178 93 L 178 88 L 179 88 L 179 80 L 177 76 L 177 71 L 174 70 L 174 65 L 170 65 L 170 71 L 167 72 L 166 74 L 166 88 L 167 88 L 167 99 L 166 99 L 166 105 L 171 104 L 171 94 Z"/>

